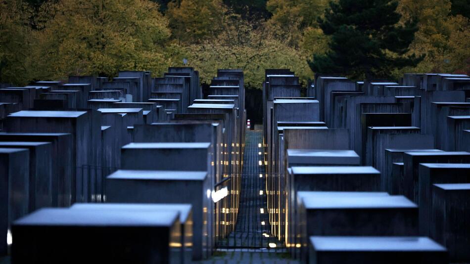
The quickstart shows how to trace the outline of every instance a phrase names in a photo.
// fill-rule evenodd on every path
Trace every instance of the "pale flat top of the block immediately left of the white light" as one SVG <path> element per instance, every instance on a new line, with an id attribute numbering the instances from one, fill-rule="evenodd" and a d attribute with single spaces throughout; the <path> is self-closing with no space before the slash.
<path id="1" fill-rule="evenodd" d="M 118 170 L 108 179 L 204 180 L 207 172 Z"/>

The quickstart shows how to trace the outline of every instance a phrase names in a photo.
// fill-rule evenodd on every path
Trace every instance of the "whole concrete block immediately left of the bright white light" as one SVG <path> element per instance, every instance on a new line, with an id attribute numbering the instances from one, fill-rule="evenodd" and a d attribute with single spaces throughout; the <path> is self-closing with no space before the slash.
<path id="1" fill-rule="evenodd" d="M 178 194 L 178 195 L 175 195 Z M 109 203 L 189 203 L 193 213 L 193 260 L 208 257 L 212 244 L 207 172 L 119 170 L 106 178 Z"/>

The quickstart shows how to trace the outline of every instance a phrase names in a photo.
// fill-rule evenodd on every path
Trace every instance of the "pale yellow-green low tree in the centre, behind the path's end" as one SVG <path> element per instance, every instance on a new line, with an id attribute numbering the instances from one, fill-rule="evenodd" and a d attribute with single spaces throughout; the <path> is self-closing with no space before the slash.
<path id="1" fill-rule="evenodd" d="M 267 68 L 290 68 L 304 83 L 312 76 L 306 56 L 276 39 L 268 25 L 254 27 L 237 15 L 227 20 L 217 39 L 187 48 L 189 65 L 199 70 L 202 82 L 210 83 L 220 68 L 243 69 L 245 84 L 255 88 L 261 88 Z"/>

